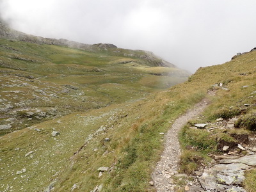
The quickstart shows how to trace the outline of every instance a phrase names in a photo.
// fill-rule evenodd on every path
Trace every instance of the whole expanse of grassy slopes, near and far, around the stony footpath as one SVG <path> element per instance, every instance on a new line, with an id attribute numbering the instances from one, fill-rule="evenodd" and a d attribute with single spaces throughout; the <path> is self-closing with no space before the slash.
<path id="1" fill-rule="evenodd" d="M 184 81 L 181 70 L 135 54 L 0 42 L 1 125 L 12 125 L 0 139 L 0 191 L 154 191 L 148 181 L 163 150 L 159 133 L 180 114 L 208 97 L 204 116 L 191 124 L 255 115 L 256 52 L 172 86 Z M 210 146 L 193 151 L 206 156 L 225 136 L 185 127 L 180 140 Z M 248 175 L 250 182 L 255 171 Z"/>

